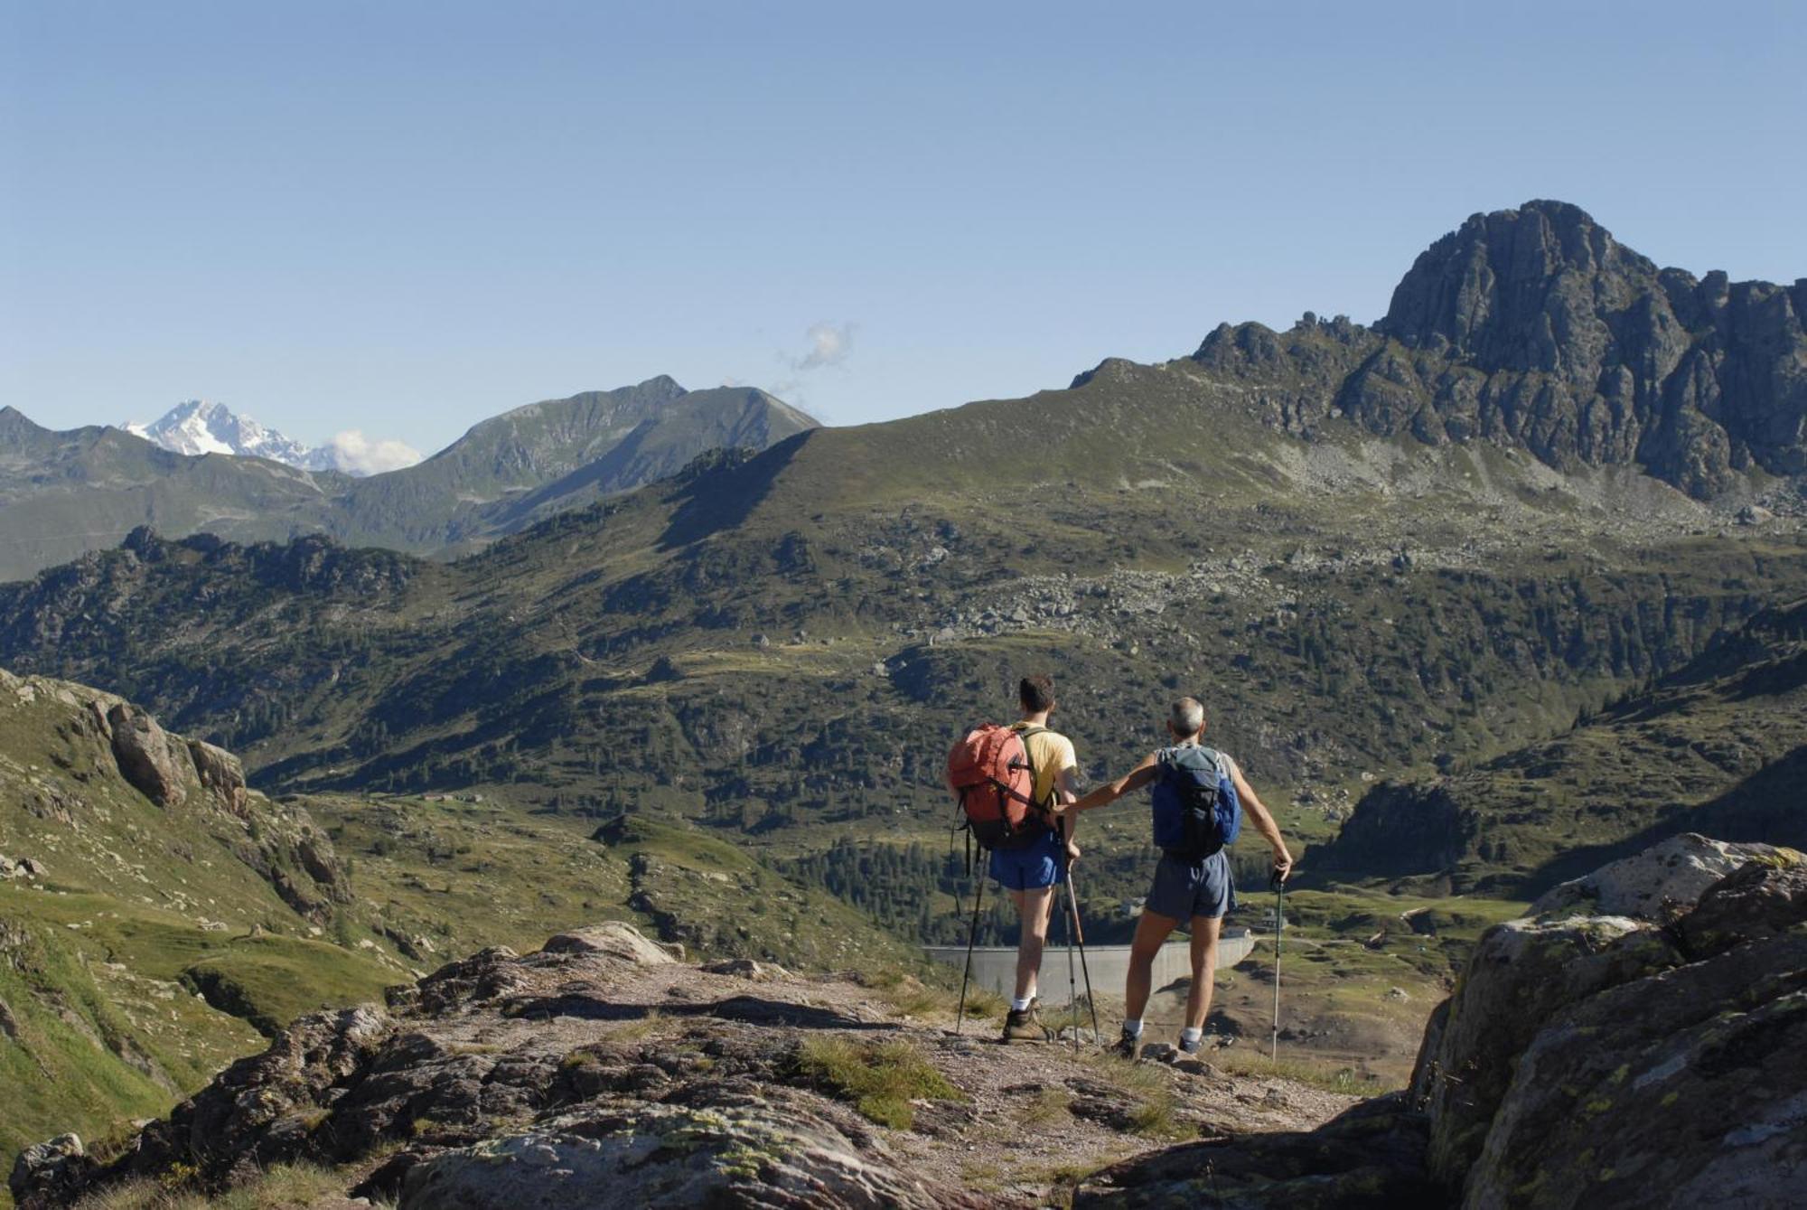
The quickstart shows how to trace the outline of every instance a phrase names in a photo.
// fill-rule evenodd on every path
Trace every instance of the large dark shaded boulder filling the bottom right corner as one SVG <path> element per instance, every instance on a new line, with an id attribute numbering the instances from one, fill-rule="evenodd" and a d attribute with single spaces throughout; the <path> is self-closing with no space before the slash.
<path id="1" fill-rule="evenodd" d="M 1807 935 L 1601 991 L 1525 1049 L 1464 1206 L 1787 1206 L 1807 1177 Z"/>

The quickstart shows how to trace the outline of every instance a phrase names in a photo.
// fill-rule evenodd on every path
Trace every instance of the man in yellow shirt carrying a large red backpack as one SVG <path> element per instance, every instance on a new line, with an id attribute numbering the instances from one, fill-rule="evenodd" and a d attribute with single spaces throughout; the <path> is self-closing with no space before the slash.
<path id="1" fill-rule="evenodd" d="M 947 780 L 960 796 L 972 838 L 990 852 L 990 876 L 1010 892 L 1021 921 L 1016 995 L 1005 1017 L 1003 1040 L 1046 1042 L 1053 1031 L 1041 1024 L 1035 1011 L 1035 984 L 1057 887 L 1066 880 L 1068 863 L 1079 856 L 1073 845 L 1075 816 L 1059 818 L 1055 807 L 1075 800 L 1079 762 L 1073 740 L 1048 730 L 1048 715 L 1055 708 L 1053 677 L 1023 677 L 1017 703 L 1023 717 L 1016 724 L 979 726 L 954 744 Z M 976 898 L 974 926 L 978 912 Z"/>

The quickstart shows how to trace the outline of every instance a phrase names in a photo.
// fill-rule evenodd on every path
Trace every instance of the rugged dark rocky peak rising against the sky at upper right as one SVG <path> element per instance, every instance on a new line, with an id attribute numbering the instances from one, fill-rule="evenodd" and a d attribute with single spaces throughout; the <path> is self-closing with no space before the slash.
<path id="1" fill-rule="evenodd" d="M 1511 437 L 1693 495 L 1803 470 L 1807 280 L 1697 280 L 1565 202 L 1475 215 L 1418 256 L 1341 405 L 1377 432 Z"/>

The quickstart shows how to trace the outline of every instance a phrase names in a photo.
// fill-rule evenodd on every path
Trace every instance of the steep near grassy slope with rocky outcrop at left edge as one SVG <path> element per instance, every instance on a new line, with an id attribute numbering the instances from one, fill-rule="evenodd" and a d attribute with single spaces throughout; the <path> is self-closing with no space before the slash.
<path id="1" fill-rule="evenodd" d="M 405 968 L 332 932 L 352 899 L 305 809 L 116 697 L 0 672 L 0 1069 L 45 1129 L 157 1112 L 304 1010 Z"/>

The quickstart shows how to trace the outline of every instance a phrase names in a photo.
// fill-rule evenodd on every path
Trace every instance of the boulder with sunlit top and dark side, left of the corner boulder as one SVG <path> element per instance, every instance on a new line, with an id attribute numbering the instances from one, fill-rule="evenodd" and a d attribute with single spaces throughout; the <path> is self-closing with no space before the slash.
<path id="1" fill-rule="evenodd" d="M 1662 932 L 1623 916 L 1516 919 L 1489 928 L 1449 1001 L 1437 1049 L 1413 1075 L 1413 1085 L 1428 1091 L 1431 1174 L 1449 1188 L 1462 1187 L 1518 1056 L 1550 1017 L 1681 963 Z"/>

